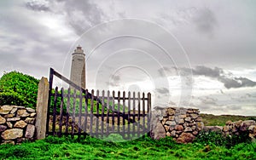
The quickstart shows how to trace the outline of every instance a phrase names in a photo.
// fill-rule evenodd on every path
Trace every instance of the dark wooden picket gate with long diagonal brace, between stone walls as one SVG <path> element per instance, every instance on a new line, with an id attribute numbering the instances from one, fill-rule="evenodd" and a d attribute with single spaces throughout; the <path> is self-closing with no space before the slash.
<path id="1" fill-rule="evenodd" d="M 69 89 L 53 89 L 54 77 Z M 46 134 L 88 135 L 97 138 L 120 134 L 133 139 L 150 131 L 151 94 L 82 89 L 50 68 Z"/>

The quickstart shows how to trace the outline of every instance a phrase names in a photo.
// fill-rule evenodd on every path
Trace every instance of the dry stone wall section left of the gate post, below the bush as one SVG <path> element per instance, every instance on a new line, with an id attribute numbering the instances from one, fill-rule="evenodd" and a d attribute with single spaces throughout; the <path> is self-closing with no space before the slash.
<path id="1" fill-rule="evenodd" d="M 0 143 L 34 140 L 36 111 L 24 106 L 0 106 Z"/>

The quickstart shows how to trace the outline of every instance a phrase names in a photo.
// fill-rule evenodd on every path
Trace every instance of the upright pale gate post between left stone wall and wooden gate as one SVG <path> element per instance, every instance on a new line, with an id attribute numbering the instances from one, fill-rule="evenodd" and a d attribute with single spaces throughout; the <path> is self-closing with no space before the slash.
<path id="1" fill-rule="evenodd" d="M 42 77 L 38 84 L 38 100 L 37 100 L 37 139 L 45 138 L 46 121 L 48 111 L 49 83 L 46 77 Z"/>

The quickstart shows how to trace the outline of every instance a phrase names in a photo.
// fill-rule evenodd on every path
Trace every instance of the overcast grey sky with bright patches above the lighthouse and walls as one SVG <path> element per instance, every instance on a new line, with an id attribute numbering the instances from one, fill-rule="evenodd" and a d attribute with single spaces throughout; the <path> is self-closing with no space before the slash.
<path id="1" fill-rule="evenodd" d="M 88 89 L 256 116 L 255 7 L 253 0 L 2 0 L 0 76 L 40 79 L 52 67 L 69 77 L 81 45 Z"/>

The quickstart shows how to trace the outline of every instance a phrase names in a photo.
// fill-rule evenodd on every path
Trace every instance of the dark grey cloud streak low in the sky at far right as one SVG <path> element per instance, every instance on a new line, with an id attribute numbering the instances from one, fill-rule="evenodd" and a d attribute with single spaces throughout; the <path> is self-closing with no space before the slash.
<path id="1" fill-rule="evenodd" d="M 227 89 L 256 86 L 256 82 L 253 82 L 247 77 L 230 77 L 230 75 L 233 76 L 232 73 L 227 75 L 222 68 L 218 67 L 212 69 L 207 66 L 196 66 L 192 71 L 195 76 L 206 76 L 218 79 L 219 82 L 224 83 Z"/>

